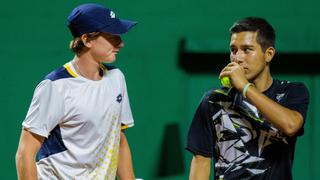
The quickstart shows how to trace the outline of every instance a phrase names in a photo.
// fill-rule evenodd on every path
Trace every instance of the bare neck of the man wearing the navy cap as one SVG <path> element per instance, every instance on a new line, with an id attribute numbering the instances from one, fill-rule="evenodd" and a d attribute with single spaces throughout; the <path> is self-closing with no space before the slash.
<path id="1" fill-rule="evenodd" d="M 100 63 L 85 55 L 75 56 L 73 59 L 75 69 L 81 76 L 94 81 L 100 80 Z"/>

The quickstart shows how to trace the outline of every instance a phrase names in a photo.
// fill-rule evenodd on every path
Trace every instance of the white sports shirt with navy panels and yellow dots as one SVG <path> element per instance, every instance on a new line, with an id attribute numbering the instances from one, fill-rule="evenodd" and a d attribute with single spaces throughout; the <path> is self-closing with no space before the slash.
<path id="1" fill-rule="evenodd" d="M 37 86 L 22 125 L 46 137 L 39 179 L 115 179 L 121 128 L 134 121 L 124 75 L 104 68 L 103 78 L 92 81 L 69 62 Z"/>

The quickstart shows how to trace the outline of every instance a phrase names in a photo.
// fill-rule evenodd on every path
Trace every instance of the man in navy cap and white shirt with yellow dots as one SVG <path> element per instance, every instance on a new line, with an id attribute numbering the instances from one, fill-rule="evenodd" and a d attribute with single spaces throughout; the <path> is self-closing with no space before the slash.
<path id="1" fill-rule="evenodd" d="M 71 12 L 75 57 L 34 92 L 16 155 L 19 179 L 134 179 L 124 134 L 134 125 L 125 77 L 107 64 L 124 45 L 120 35 L 135 24 L 98 4 Z"/>

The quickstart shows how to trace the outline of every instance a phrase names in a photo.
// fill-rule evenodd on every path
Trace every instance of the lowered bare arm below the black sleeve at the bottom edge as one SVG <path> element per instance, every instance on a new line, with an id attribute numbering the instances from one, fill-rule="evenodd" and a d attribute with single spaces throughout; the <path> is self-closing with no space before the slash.
<path id="1" fill-rule="evenodd" d="M 210 177 L 211 158 L 195 155 L 192 158 L 189 180 L 208 180 Z"/>

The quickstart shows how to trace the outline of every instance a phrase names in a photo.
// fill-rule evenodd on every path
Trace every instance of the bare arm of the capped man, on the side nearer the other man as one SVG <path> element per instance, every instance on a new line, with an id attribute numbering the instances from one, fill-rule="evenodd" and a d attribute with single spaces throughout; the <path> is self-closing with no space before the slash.
<path id="1" fill-rule="evenodd" d="M 119 180 L 134 180 L 131 152 L 123 131 L 120 133 L 119 164 L 117 170 Z"/>

